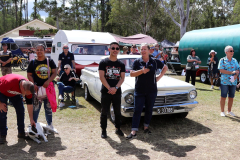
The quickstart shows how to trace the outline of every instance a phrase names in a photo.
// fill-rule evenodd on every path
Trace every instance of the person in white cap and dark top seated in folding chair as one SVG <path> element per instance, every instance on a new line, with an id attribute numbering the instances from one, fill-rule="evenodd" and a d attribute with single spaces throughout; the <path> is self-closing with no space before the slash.
<path id="1" fill-rule="evenodd" d="M 59 107 L 65 106 L 65 104 L 63 103 L 64 92 L 66 92 L 66 93 L 72 92 L 72 96 L 73 96 L 75 83 L 78 80 L 79 80 L 79 78 L 77 78 L 74 71 L 72 71 L 71 66 L 69 64 L 66 64 L 64 66 L 64 72 L 60 75 L 60 77 L 57 77 L 57 81 L 59 81 L 58 82 L 58 89 L 59 89 L 58 99 L 61 100 Z"/>

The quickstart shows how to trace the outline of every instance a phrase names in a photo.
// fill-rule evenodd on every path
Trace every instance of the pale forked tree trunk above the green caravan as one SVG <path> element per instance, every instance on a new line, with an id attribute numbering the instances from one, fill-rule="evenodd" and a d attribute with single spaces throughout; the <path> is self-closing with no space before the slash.
<path id="1" fill-rule="evenodd" d="M 168 13 L 168 15 L 171 17 L 172 21 L 178 26 L 180 27 L 180 39 L 182 38 L 182 36 L 186 33 L 186 28 L 187 28 L 187 24 L 188 24 L 188 18 L 189 18 L 189 7 L 190 7 L 190 0 L 187 0 L 187 7 L 186 7 L 186 13 L 185 13 L 185 9 L 184 9 L 184 0 L 175 0 L 176 2 L 176 6 L 177 6 L 177 10 L 179 12 L 179 16 L 180 16 L 180 23 L 178 23 L 175 18 L 172 16 L 171 12 L 169 11 L 169 9 L 166 7 L 166 3 L 164 4 L 163 0 L 161 0 L 162 2 L 162 6 L 164 7 L 164 9 L 166 10 L 166 12 Z"/>

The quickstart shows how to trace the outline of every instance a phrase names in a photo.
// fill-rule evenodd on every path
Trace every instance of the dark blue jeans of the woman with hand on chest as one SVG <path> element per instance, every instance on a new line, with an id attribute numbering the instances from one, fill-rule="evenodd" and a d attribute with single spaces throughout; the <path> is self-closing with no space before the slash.
<path id="1" fill-rule="evenodd" d="M 136 93 L 134 92 L 134 113 L 132 118 L 132 131 L 138 131 L 141 113 L 145 105 L 144 126 L 148 127 L 152 119 L 152 110 L 157 92 L 154 93 Z"/>

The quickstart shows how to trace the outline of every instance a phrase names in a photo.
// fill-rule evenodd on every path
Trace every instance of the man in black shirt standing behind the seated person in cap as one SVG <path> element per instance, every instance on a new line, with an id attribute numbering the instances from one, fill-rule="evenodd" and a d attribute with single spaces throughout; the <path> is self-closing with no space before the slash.
<path id="1" fill-rule="evenodd" d="M 69 47 L 67 44 L 63 45 L 63 52 L 59 54 L 58 57 L 58 75 L 61 75 L 64 72 L 64 66 L 69 64 L 74 72 L 76 73 L 75 61 L 73 53 L 69 52 Z"/>

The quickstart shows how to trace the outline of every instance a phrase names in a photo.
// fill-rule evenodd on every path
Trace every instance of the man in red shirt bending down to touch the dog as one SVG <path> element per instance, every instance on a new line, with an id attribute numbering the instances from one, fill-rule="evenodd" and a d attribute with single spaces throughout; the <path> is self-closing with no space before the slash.
<path id="1" fill-rule="evenodd" d="M 25 138 L 25 109 L 22 97 L 25 96 L 30 124 L 36 126 L 33 120 L 32 95 L 34 84 L 18 74 L 8 74 L 0 78 L 0 144 L 6 143 L 7 137 L 7 101 L 12 102 L 17 115 L 18 138 Z"/>

